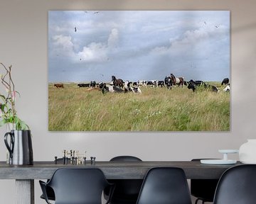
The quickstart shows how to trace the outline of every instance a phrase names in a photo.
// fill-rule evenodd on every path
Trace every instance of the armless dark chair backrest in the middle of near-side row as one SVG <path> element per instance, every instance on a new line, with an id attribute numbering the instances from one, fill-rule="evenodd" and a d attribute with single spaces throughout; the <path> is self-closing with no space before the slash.
<path id="1" fill-rule="evenodd" d="M 156 167 L 145 176 L 137 204 L 191 204 L 183 169 Z"/>

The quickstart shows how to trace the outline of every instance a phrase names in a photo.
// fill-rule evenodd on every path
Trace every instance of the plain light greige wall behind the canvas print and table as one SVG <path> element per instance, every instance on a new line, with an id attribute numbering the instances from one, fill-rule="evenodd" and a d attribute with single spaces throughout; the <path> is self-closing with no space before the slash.
<path id="1" fill-rule="evenodd" d="M 33 132 L 34 160 L 53 160 L 62 149 L 87 150 L 109 160 L 133 154 L 143 160 L 222 157 L 255 135 L 256 1 L 254 0 L 1 0 L 0 62 L 13 65 L 18 114 Z M 230 132 L 48 132 L 48 10 L 230 10 Z M 0 160 L 6 159 L 5 128 Z M 238 159 L 235 155 L 233 158 Z M 36 203 L 43 203 L 38 181 Z M 1 203 L 14 202 L 14 181 L 0 181 Z"/>

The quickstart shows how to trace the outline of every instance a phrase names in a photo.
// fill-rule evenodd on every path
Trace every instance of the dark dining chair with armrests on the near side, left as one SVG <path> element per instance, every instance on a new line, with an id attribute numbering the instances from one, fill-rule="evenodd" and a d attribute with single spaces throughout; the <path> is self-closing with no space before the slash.
<path id="1" fill-rule="evenodd" d="M 100 169 L 57 169 L 47 183 L 39 183 L 49 204 L 46 186 L 53 188 L 55 204 L 102 204 L 102 192 L 107 186 L 113 187 Z M 110 188 L 110 198 L 113 188 Z"/>

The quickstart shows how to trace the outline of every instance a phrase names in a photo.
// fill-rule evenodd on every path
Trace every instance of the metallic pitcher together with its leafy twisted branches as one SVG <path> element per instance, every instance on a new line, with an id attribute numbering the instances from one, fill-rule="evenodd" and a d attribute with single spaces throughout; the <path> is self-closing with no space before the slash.
<path id="1" fill-rule="evenodd" d="M 4 143 L 9 152 L 6 162 L 15 165 L 33 164 L 31 130 L 17 115 L 15 103 L 20 94 L 11 77 L 11 66 L 6 67 L 3 63 L 0 65 L 4 68 L 4 73 L 0 74 L 1 84 L 6 90 L 5 94 L 0 92 L 0 127 L 6 125 L 9 129 L 4 135 Z"/>

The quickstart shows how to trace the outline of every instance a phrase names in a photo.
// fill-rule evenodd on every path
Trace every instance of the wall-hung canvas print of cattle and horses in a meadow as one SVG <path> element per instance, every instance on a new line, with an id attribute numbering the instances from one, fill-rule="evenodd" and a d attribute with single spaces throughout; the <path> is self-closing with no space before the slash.
<path id="1" fill-rule="evenodd" d="M 49 11 L 48 130 L 229 131 L 230 11 Z"/>

